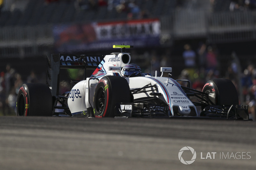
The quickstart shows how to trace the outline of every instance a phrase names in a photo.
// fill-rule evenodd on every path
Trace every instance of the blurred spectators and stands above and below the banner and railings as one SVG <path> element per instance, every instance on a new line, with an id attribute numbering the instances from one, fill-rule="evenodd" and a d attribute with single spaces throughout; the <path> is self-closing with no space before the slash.
<path id="1" fill-rule="evenodd" d="M 0 2 L 0 27 L 157 18 L 169 15 L 172 10 L 179 8 L 205 7 L 211 12 L 256 9 L 255 0 L 2 0 Z M 174 45 L 164 48 L 133 49 L 129 52 L 132 53 L 132 62 L 140 65 L 143 72 L 154 72 L 154 70 L 159 72 L 160 67 L 176 65 L 174 78 L 188 79 L 192 88 L 200 91 L 205 82 L 211 78 L 232 80 L 237 87 L 240 104 L 249 105 L 249 112 L 255 117 L 255 59 L 241 63 L 241 59 L 238 59 L 236 54 L 229 54 L 224 60 L 218 46 L 209 44 L 207 40 L 183 40 L 179 44 L 181 46 L 179 50 L 175 49 Z M 26 75 L 9 64 L 5 68 L 0 68 L 0 73 L 0 114 L 2 115 L 15 114 L 16 96 L 23 83 L 44 83 L 45 80 L 41 72 L 31 71 Z"/>

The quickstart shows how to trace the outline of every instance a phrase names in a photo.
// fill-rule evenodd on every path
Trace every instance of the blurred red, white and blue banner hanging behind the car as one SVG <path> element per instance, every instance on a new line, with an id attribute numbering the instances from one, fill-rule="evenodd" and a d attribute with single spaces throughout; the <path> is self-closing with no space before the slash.
<path id="1" fill-rule="evenodd" d="M 110 49 L 113 45 L 151 47 L 159 45 L 160 21 L 142 19 L 53 27 L 58 52 Z"/>

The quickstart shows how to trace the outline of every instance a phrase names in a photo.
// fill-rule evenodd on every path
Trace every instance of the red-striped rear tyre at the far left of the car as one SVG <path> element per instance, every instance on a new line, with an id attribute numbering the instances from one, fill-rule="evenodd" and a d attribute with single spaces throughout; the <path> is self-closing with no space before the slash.
<path id="1" fill-rule="evenodd" d="M 17 97 L 17 116 L 52 116 L 52 94 L 45 84 L 23 84 Z"/>

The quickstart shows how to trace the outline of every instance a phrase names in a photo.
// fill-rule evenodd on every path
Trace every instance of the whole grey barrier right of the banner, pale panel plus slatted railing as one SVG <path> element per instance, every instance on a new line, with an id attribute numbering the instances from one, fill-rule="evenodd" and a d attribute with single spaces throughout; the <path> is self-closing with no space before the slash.
<path id="1" fill-rule="evenodd" d="M 213 43 L 256 39 L 256 12 L 173 11 L 161 18 L 161 31 L 172 38 L 205 37 Z"/>

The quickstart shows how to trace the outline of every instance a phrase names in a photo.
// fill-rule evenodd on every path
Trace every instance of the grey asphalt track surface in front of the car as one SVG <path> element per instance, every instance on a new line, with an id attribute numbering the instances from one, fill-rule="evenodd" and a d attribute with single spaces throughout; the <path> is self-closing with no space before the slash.
<path id="1" fill-rule="evenodd" d="M 0 169 L 255 169 L 255 133 L 252 121 L 2 116 Z"/>

